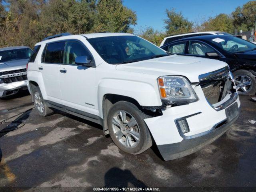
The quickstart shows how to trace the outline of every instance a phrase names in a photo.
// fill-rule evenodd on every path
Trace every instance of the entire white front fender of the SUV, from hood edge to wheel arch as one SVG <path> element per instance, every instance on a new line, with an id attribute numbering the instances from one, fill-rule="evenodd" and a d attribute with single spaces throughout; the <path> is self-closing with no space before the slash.
<path id="1" fill-rule="evenodd" d="M 98 81 L 98 107 L 101 117 L 103 117 L 102 102 L 106 94 L 133 98 L 140 106 L 162 105 L 156 77 L 139 73 L 117 72 L 117 70 L 114 70 L 114 72 L 113 70 L 109 72 L 100 71 L 97 72 L 99 77 L 105 74 L 105 77 Z"/>

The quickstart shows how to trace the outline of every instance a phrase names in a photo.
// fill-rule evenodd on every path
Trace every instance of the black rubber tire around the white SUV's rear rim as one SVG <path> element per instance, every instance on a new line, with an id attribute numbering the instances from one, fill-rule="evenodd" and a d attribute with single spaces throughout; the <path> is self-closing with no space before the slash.
<path id="1" fill-rule="evenodd" d="M 39 107 L 37 106 L 37 102 L 36 102 L 36 93 L 39 94 L 40 96 L 40 100 L 42 102 L 42 106 L 43 106 L 43 110 L 39 110 Z M 32 98 L 33 98 L 33 102 L 34 102 L 34 106 L 36 108 L 36 111 L 38 112 L 38 114 L 40 114 L 40 116 L 48 116 L 48 115 L 51 115 L 53 114 L 53 110 L 51 110 L 47 105 L 46 103 L 44 102 L 44 98 L 42 97 L 42 93 L 40 91 L 40 88 L 39 87 L 33 87 L 32 88 Z"/>

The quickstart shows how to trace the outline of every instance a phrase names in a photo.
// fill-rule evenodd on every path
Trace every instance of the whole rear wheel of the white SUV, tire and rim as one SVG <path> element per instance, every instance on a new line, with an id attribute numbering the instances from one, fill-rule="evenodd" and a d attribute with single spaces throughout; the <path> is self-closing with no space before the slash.
<path id="1" fill-rule="evenodd" d="M 38 114 L 40 114 L 40 116 L 45 117 L 53 113 L 53 110 L 48 108 L 48 106 L 44 102 L 44 98 L 39 87 L 34 87 L 32 89 L 32 98 L 36 111 L 38 112 Z"/>

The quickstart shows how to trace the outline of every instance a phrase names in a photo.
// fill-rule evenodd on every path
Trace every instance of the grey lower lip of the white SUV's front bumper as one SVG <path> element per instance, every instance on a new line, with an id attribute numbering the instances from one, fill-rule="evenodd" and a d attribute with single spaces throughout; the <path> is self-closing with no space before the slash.
<path id="1" fill-rule="evenodd" d="M 158 145 L 158 150 L 166 161 L 192 154 L 222 136 L 222 134 L 228 130 L 230 125 L 237 120 L 239 114 L 233 120 L 222 124 L 222 126 L 212 130 L 209 134 L 189 140 L 183 139 L 178 143 Z"/>

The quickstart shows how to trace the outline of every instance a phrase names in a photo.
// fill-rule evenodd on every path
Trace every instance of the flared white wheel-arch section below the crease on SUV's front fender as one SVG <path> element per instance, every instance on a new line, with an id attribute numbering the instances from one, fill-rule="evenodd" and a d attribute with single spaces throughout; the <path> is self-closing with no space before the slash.
<path id="1" fill-rule="evenodd" d="M 133 98 L 141 106 L 162 105 L 158 88 L 154 88 L 150 83 L 106 78 L 102 79 L 98 84 L 98 107 L 101 118 L 103 118 L 102 102 L 106 94 L 116 94 Z"/>

